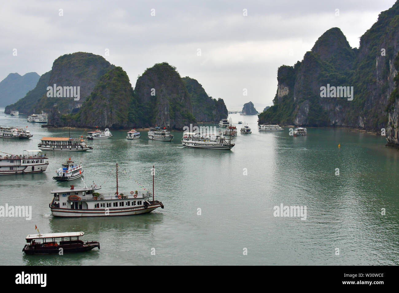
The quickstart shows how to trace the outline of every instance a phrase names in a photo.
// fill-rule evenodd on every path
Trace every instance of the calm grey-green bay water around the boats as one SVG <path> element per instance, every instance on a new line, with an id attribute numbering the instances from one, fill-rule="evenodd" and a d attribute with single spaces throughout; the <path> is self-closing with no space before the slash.
<path id="1" fill-rule="evenodd" d="M 0 151 L 20 154 L 37 149 L 43 136 L 68 136 L 67 129 L 41 128 L 3 111 L 0 125 L 28 126 L 34 137 L 0 139 Z M 259 133 L 257 116 L 230 117 L 253 130 L 239 133 L 231 151 L 183 148 L 182 132 L 168 143 L 149 141 L 146 132 L 131 141 L 126 131 L 113 131 L 110 139 L 88 142 L 93 151 L 46 152 L 44 173 L 0 176 L 0 205 L 32 206 L 32 220 L 0 218 L 0 264 L 399 264 L 399 152 L 384 146 L 385 137 L 332 128 L 309 128 L 304 137 L 289 136 L 288 129 Z M 82 133 L 73 129 L 71 137 Z M 152 191 L 155 165 L 155 199 L 165 208 L 138 216 L 54 218 L 49 191 L 83 186 L 81 179 L 52 179 L 69 157 L 83 163 L 87 185 L 95 181 L 103 192 L 116 190 L 116 163 L 120 189 L 140 190 L 138 181 Z M 273 216 L 281 203 L 306 206 L 306 220 Z M 99 241 L 101 250 L 26 256 L 25 237 L 35 225 L 41 233 L 84 231 L 82 240 Z"/>

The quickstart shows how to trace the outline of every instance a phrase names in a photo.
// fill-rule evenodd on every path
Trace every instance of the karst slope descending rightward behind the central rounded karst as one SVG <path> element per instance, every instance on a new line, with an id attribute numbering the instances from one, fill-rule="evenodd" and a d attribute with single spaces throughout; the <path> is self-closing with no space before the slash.
<path id="1" fill-rule="evenodd" d="M 227 108 L 222 99 L 219 98 L 218 102 L 208 96 L 196 79 L 186 76 L 182 78 L 182 81 L 190 94 L 193 114 L 197 122 L 212 122 L 227 118 Z"/>

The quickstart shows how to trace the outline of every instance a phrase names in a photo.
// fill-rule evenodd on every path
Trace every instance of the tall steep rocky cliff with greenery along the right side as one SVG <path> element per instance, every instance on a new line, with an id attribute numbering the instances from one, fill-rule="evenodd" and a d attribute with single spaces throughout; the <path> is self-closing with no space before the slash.
<path id="1" fill-rule="evenodd" d="M 274 105 L 259 115 L 259 122 L 381 130 L 389 120 L 392 129 L 396 128 L 399 105 L 391 92 L 398 51 L 399 1 L 381 12 L 378 21 L 361 36 L 359 49 L 349 46 L 340 29 L 329 29 L 302 61 L 279 68 Z M 348 100 L 348 95 L 322 97 L 320 88 L 328 84 L 353 87 L 353 100 Z"/>

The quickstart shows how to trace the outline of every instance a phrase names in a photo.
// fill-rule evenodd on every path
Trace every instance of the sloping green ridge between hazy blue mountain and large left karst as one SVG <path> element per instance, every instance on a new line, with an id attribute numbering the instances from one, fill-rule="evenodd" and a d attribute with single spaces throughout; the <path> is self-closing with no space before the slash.
<path id="1" fill-rule="evenodd" d="M 26 96 L 19 99 L 14 104 L 6 106 L 6 109 L 4 112 L 10 113 L 11 111 L 16 110 L 16 111 L 19 111 L 20 113 L 29 114 L 29 115 L 32 114 L 35 109 L 36 104 L 39 102 L 39 100 L 43 96 L 43 93 L 46 92 L 46 88 L 49 85 L 50 73 L 51 73 L 51 71 L 43 74 L 39 78 L 39 81 L 33 90 L 30 90 L 26 94 Z M 39 112 L 41 112 L 41 109 L 36 108 L 35 111 L 36 111 L 36 113 L 39 113 Z"/>

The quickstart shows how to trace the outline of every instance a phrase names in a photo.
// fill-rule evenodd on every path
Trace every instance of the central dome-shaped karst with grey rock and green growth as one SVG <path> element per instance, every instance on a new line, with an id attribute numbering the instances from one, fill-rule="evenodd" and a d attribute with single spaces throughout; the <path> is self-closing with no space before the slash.
<path id="1" fill-rule="evenodd" d="M 195 123 L 190 94 L 175 67 L 157 63 L 138 77 L 134 96 L 142 126 L 183 129 Z"/>

